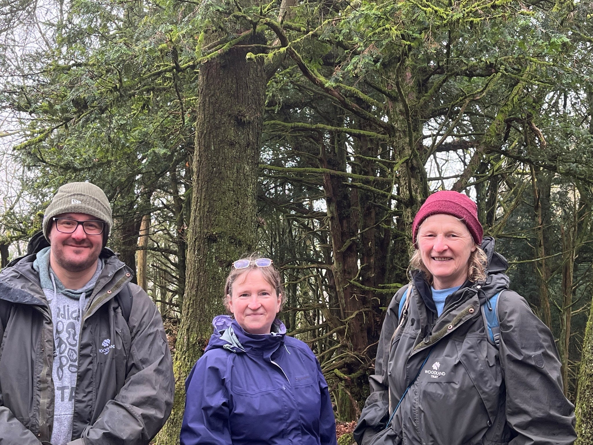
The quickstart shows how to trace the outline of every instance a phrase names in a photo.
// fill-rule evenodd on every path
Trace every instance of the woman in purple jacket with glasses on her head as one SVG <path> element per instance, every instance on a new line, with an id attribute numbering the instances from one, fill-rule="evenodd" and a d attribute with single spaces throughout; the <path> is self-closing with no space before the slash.
<path id="1" fill-rule="evenodd" d="M 320 365 L 286 336 L 280 274 L 251 255 L 233 263 L 225 306 L 206 352 L 186 380 L 181 445 L 336 444 L 336 421 Z"/>

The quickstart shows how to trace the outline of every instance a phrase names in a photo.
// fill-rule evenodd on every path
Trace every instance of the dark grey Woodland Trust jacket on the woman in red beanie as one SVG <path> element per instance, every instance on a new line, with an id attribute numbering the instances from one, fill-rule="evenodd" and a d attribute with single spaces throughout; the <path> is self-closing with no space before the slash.
<path id="1" fill-rule="evenodd" d="M 551 332 L 524 298 L 508 290 L 503 274 L 508 264 L 494 252 L 494 240 L 484 239 L 482 248 L 489 259 L 486 282 L 467 281 L 447 297 L 440 317 L 423 274 L 413 273 L 406 320 L 393 337 L 407 287 L 394 296 L 381 330 L 375 374 L 369 378 L 371 395 L 355 430 L 359 444 L 575 441 L 574 407 L 562 392 Z M 497 349 L 488 341 L 480 305 L 499 291 Z"/>

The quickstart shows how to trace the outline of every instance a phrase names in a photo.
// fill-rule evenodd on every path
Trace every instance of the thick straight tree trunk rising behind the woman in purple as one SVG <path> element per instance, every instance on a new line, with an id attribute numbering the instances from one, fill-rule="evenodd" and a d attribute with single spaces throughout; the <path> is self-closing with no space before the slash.
<path id="1" fill-rule="evenodd" d="M 253 38 L 250 43 L 262 43 Z M 231 49 L 200 66 L 186 290 L 177 334 L 173 412 L 158 444 L 178 443 L 184 380 L 224 313 L 231 263 L 256 241 L 256 186 L 266 77 L 262 59 Z"/>

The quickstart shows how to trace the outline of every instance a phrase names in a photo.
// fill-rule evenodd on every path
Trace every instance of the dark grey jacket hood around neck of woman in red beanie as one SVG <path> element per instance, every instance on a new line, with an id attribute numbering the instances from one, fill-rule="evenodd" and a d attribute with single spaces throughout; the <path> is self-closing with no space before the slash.
<path id="1" fill-rule="evenodd" d="M 480 304 L 484 304 L 487 298 L 508 289 L 511 280 L 504 273 L 508 269 L 509 263 L 500 253 L 495 252 L 494 238 L 491 236 L 484 237 L 481 247 L 484 253 L 486 253 L 487 259 L 486 281 L 483 283 L 474 283 L 468 280 L 453 295 L 461 295 L 469 290 L 471 295 L 479 294 Z M 426 307 L 436 313 L 435 302 L 432 300 L 431 286 L 426 282 L 423 272 L 412 271 L 411 275 L 416 290 L 422 296 Z"/>

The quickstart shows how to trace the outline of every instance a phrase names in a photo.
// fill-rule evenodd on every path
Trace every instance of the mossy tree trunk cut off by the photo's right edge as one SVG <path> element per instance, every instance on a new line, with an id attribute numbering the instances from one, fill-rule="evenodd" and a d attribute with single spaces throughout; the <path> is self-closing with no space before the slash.
<path id="1" fill-rule="evenodd" d="M 576 396 L 576 434 L 575 445 L 593 443 L 593 303 L 585 329 L 579 389 Z"/>

